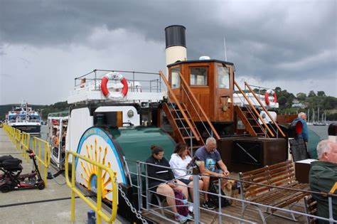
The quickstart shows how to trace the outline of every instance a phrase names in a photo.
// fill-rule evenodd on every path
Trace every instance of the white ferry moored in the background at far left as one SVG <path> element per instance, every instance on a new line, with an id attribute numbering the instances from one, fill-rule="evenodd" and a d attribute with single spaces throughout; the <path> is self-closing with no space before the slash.
<path id="1" fill-rule="evenodd" d="M 27 102 L 21 102 L 20 107 L 15 107 L 6 115 L 7 124 L 21 132 L 40 134 L 41 116 L 38 112 L 28 107 Z"/>

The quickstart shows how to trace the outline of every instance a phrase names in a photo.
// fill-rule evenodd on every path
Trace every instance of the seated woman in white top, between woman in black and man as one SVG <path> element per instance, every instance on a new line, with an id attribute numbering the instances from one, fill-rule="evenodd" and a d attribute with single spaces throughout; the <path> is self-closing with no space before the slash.
<path id="1" fill-rule="evenodd" d="M 181 182 L 186 183 L 190 189 L 191 199 L 193 201 L 193 176 L 187 173 L 186 167 L 191 162 L 192 158 L 188 151 L 188 146 L 185 143 L 176 144 L 174 153 L 171 155 L 170 166 L 174 177 Z M 199 189 L 203 189 L 203 181 L 199 180 Z M 193 206 L 188 206 L 188 210 L 193 212 Z"/>

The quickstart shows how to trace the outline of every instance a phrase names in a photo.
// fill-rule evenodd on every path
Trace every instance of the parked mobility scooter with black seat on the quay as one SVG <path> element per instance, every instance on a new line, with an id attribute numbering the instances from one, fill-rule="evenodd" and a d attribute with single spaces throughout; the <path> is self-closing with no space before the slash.
<path id="1" fill-rule="evenodd" d="M 16 159 L 12 156 L 0 157 L 0 170 L 4 172 L 4 174 L 0 175 L 0 191 L 2 193 L 20 188 L 38 188 L 40 190 L 45 188 L 33 150 L 28 149 L 26 152 L 29 154 L 29 158 L 33 160 L 35 168 L 29 174 L 20 175 L 22 171 L 21 159 Z"/>

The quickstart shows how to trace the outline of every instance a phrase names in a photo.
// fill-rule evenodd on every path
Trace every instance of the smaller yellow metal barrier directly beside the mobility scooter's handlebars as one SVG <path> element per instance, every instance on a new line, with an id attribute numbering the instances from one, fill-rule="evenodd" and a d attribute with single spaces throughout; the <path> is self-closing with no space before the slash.
<path id="1" fill-rule="evenodd" d="M 47 186 L 48 168 L 50 166 L 50 146 L 49 143 L 38 137 L 33 137 L 33 151 L 38 159 L 38 167 L 43 165 L 43 181 Z"/>

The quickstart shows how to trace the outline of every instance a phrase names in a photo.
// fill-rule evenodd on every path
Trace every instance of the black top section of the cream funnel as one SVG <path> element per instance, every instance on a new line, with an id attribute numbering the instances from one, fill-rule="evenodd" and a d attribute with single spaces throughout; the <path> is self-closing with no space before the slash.
<path id="1" fill-rule="evenodd" d="M 185 26 L 172 25 L 165 28 L 166 48 L 183 46 L 186 48 Z"/>

